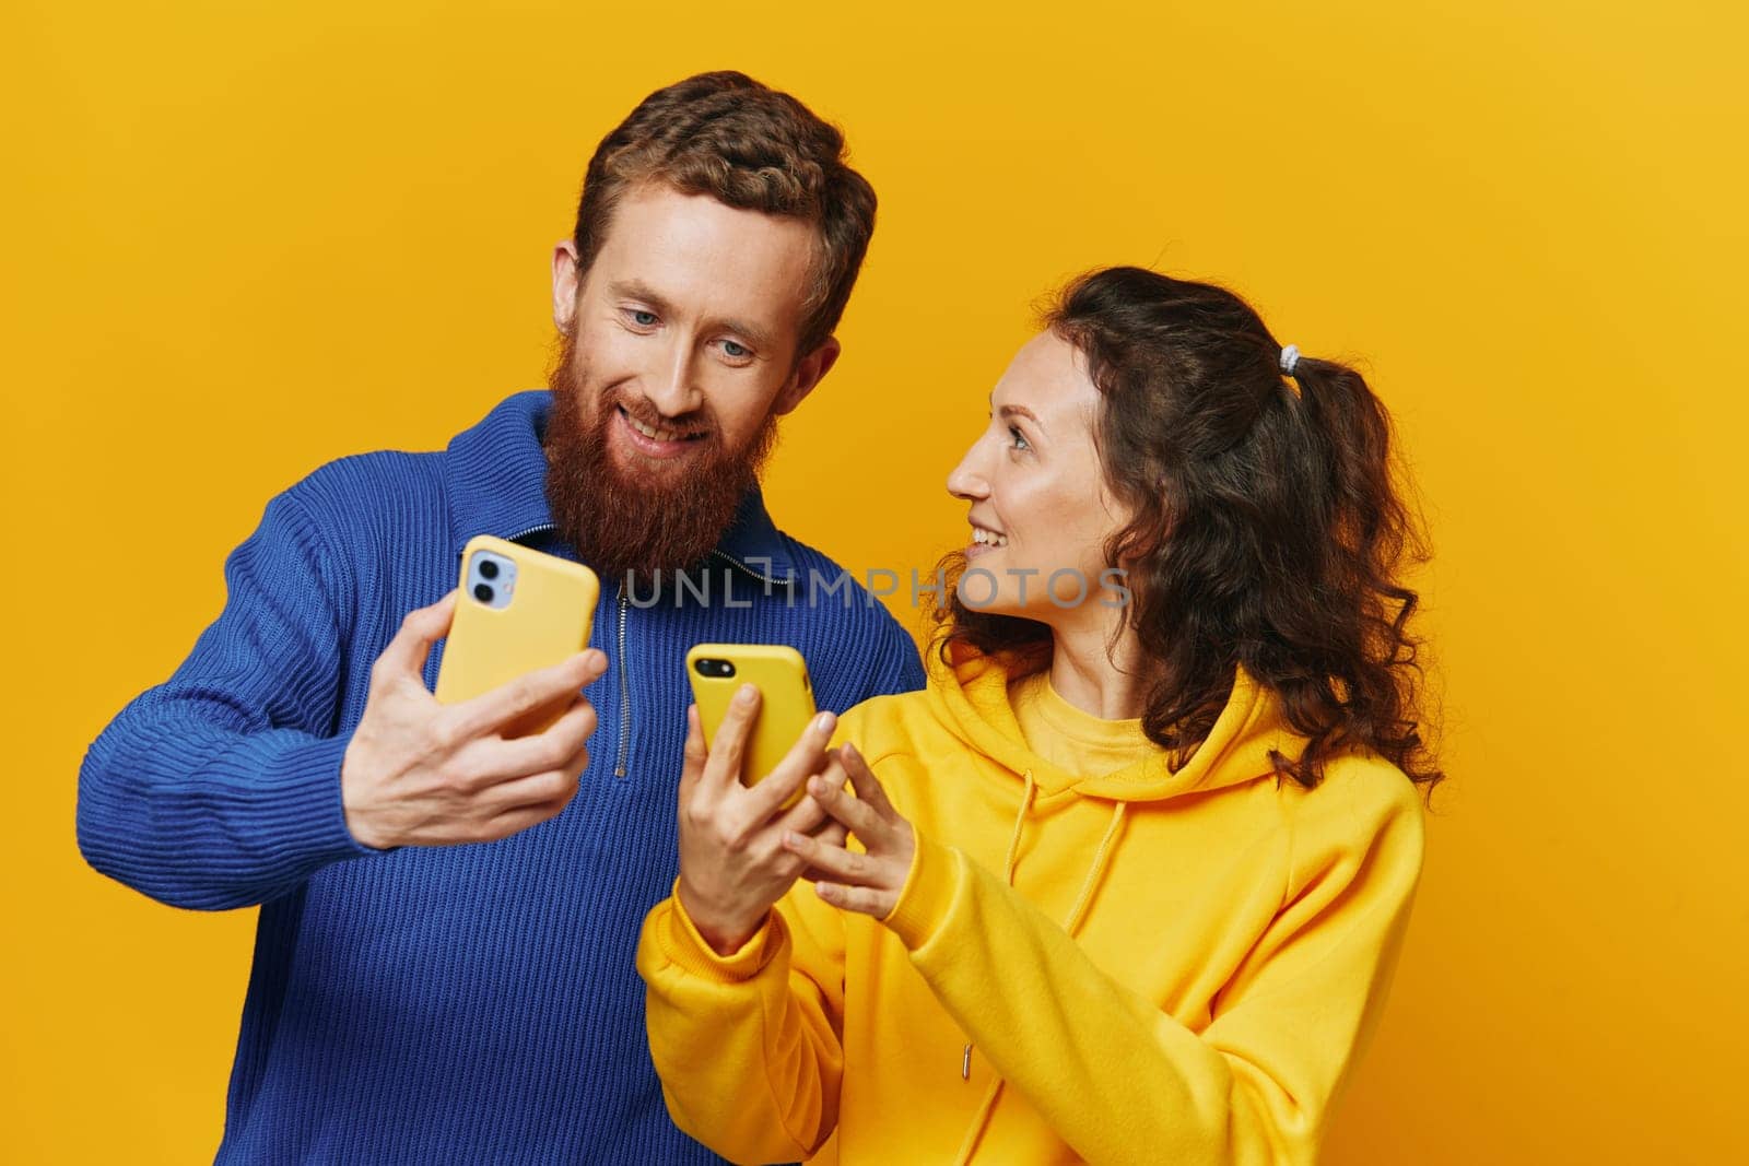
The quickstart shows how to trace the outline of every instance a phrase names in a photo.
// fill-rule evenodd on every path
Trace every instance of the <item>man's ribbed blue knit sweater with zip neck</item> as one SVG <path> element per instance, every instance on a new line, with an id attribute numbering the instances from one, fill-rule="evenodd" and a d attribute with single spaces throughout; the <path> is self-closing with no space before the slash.
<path id="1" fill-rule="evenodd" d="M 341 757 L 401 617 L 455 586 L 472 535 L 570 556 L 549 404 L 519 393 L 444 453 L 345 458 L 276 496 L 219 621 L 86 755 L 93 867 L 182 907 L 261 904 L 222 1163 L 717 1161 L 668 1122 L 633 967 L 677 871 L 686 650 L 789 643 L 834 711 L 923 684 L 885 608 L 813 586 L 838 566 L 754 493 L 694 572 L 708 605 L 602 580 L 600 729 L 563 813 L 488 844 L 357 844 Z"/>

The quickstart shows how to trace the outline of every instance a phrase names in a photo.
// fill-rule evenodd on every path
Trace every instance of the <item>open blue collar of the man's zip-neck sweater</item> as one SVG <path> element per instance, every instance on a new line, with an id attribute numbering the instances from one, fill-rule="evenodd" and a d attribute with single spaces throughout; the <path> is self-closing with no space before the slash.
<path id="1" fill-rule="evenodd" d="M 456 554 L 474 535 L 514 540 L 553 530 L 540 446 L 551 409 L 553 395 L 544 388 L 516 393 L 449 442 L 449 537 Z M 742 498 L 717 552 L 763 579 L 794 582 L 787 538 L 757 486 Z"/>

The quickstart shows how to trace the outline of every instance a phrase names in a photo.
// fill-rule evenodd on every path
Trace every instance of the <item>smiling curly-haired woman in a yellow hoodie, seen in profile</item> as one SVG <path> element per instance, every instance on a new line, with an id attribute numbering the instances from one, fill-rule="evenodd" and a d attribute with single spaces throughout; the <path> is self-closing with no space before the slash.
<path id="1" fill-rule="evenodd" d="M 1233 294 L 1107 269 L 948 489 L 929 689 L 752 788 L 756 703 L 708 757 L 694 715 L 638 951 L 673 1119 L 738 1161 L 1312 1161 L 1441 776 L 1383 409 Z"/>

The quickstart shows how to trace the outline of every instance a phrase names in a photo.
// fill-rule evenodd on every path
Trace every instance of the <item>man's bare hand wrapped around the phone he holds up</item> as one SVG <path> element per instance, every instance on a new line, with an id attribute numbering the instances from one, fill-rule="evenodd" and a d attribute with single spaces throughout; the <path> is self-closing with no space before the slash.
<path id="1" fill-rule="evenodd" d="M 364 717 L 341 764 L 346 829 L 364 846 L 448 846 L 516 834 L 560 813 L 589 764 L 596 717 L 581 689 L 607 671 L 589 649 L 458 704 L 441 704 L 422 671 L 449 631 L 456 593 L 408 614 L 371 666 Z M 500 729 L 572 701 L 542 732 Z M 806 780 L 806 774 L 803 774 Z"/>

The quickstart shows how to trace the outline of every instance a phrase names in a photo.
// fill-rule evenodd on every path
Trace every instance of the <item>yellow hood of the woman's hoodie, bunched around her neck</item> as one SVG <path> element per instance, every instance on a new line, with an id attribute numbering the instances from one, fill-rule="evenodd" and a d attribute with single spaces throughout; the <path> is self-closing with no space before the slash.
<path id="1" fill-rule="evenodd" d="M 1014 663 L 965 645 L 953 645 L 950 652 L 950 661 L 936 650 L 927 652 L 929 701 L 937 720 L 1016 776 L 1030 774 L 1041 794 L 1072 788 L 1084 797 L 1158 802 L 1266 778 L 1275 773 L 1272 750 L 1298 759 L 1307 745 L 1282 715 L 1280 699 L 1240 666 L 1226 708 L 1182 769 L 1174 771 L 1167 752 L 1154 750 L 1112 773 L 1069 773 L 1034 753 L 1020 732 L 1007 691 L 1009 680 L 1021 675 Z"/>

